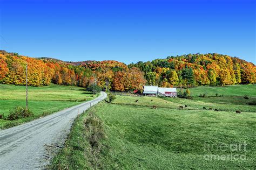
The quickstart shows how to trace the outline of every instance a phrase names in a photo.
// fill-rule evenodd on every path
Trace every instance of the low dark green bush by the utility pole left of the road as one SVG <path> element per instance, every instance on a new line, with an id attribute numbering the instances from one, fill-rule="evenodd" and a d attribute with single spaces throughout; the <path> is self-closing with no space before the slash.
<path id="1" fill-rule="evenodd" d="M 9 121 L 13 121 L 19 118 L 25 118 L 30 116 L 33 116 L 33 114 L 29 109 L 23 107 L 15 107 L 10 111 L 10 114 L 6 117 L 6 119 Z"/>

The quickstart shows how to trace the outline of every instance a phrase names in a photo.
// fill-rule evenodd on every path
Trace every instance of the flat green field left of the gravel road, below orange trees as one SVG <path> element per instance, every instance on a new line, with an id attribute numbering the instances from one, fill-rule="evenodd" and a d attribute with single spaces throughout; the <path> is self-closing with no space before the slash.
<path id="1" fill-rule="evenodd" d="M 28 94 L 29 109 L 35 116 L 16 121 L 0 119 L 0 129 L 28 122 L 93 98 L 92 94 L 85 91 L 84 88 L 55 84 L 44 87 L 28 87 Z M 25 107 L 25 87 L 0 84 L 0 106 L 0 114 L 4 114 L 4 116 L 8 116 L 10 110 L 16 106 Z"/>

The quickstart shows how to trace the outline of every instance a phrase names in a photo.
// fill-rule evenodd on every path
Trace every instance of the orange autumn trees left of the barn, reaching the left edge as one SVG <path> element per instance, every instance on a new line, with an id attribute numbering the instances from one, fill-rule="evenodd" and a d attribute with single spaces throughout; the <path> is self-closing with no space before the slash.
<path id="1" fill-rule="evenodd" d="M 50 83 L 89 87 L 97 84 L 104 90 L 142 90 L 146 80 L 139 68 L 118 61 L 91 61 L 75 66 L 57 60 L 36 59 L 17 53 L 0 51 L 0 83 L 25 85 L 28 65 L 28 86 Z"/>

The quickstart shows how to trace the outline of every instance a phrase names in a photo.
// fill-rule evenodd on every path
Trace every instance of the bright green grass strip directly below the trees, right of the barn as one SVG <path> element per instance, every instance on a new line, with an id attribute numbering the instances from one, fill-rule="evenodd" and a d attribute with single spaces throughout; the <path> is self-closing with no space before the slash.
<path id="1" fill-rule="evenodd" d="M 256 84 L 224 87 L 199 86 L 189 89 L 191 92 L 191 96 L 199 96 L 200 94 L 215 96 L 216 93 L 224 96 L 256 96 Z"/>

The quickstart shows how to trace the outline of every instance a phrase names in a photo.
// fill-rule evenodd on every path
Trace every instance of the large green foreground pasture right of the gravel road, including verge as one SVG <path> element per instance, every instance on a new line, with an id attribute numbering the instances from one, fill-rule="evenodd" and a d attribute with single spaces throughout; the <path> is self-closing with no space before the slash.
<path id="1" fill-rule="evenodd" d="M 87 111 L 76 120 L 65 147 L 53 158 L 49 168 L 255 168 L 255 106 L 238 105 L 240 110 L 247 110 L 242 114 L 235 114 L 238 108 L 232 107 L 236 104 L 231 107 L 231 104 L 211 103 L 211 107 L 221 111 L 201 108 L 210 102 L 212 99 L 199 101 L 117 95 L 111 104 L 102 102 L 92 108 L 104 123 L 106 137 L 99 139 L 102 147 L 95 148 L 88 138 L 84 126 Z M 185 103 L 190 106 L 178 109 Z M 153 105 L 157 109 L 152 109 Z M 234 149 L 244 142 L 246 147 Z M 213 147 L 209 148 L 210 145 Z M 225 145 L 226 149 L 221 150 Z M 232 155 L 236 155 L 235 159 Z"/>

